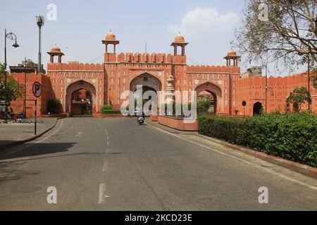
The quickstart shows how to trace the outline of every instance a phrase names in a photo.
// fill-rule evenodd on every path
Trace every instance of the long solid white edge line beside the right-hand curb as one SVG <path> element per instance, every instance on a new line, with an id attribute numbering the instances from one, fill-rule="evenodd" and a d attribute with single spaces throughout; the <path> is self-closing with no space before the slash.
<path id="1" fill-rule="evenodd" d="M 173 133 L 170 133 L 170 132 L 168 132 L 168 131 L 163 131 L 162 129 L 159 129 L 158 127 L 154 127 L 153 125 L 151 125 L 151 127 L 154 128 L 154 129 L 157 129 L 157 130 L 159 130 L 159 131 L 161 131 L 161 132 L 163 132 L 163 133 L 166 133 L 166 134 L 170 134 L 170 135 L 172 135 L 172 136 L 175 136 L 175 137 L 177 137 L 177 138 L 179 138 L 179 139 L 182 139 L 182 140 L 184 140 L 184 141 L 188 141 L 189 143 L 193 143 L 194 145 L 197 145 L 197 146 L 200 146 L 200 147 L 202 147 L 202 148 L 206 148 L 206 149 L 212 150 L 213 152 L 219 153 L 220 155 L 225 155 L 225 156 L 228 156 L 229 158 L 232 158 L 232 159 L 235 159 L 235 160 L 239 160 L 240 162 L 247 163 L 247 164 L 249 164 L 249 165 L 251 165 L 251 166 L 254 166 L 254 167 L 258 168 L 258 169 L 261 169 L 261 170 L 263 170 L 263 171 L 265 171 L 265 172 L 274 174 L 274 175 L 276 175 L 276 176 L 280 176 L 280 177 L 282 177 L 283 179 L 287 179 L 288 181 L 292 181 L 292 182 L 294 182 L 294 183 L 297 183 L 297 184 L 300 184 L 300 185 L 302 185 L 302 186 L 305 186 L 306 188 L 310 188 L 310 189 L 312 189 L 312 190 L 314 190 L 314 191 L 317 191 L 317 187 L 316 187 L 316 186 L 312 186 L 312 185 L 310 185 L 310 184 L 306 184 L 306 183 L 304 183 L 304 182 L 302 182 L 302 181 L 298 181 L 297 179 L 292 179 L 292 178 L 290 178 L 289 176 L 285 176 L 285 175 L 280 174 L 280 173 L 278 173 L 278 172 L 275 172 L 275 171 L 273 171 L 273 170 L 271 170 L 271 169 L 267 169 L 267 168 L 265 168 L 265 167 L 261 167 L 261 166 L 259 166 L 259 165 L 256 165 L 256 164 L 254 164 L 254 163 L 252 163 L 252 162 L 248 162 L 247 160 L 242 160 L 242 159 L 240 159 L 240 158 L 237 158 L 237 157 L 235 157 L 235 156 L 229 155 L 229 154 L 227 154 L 227 153 L 223 153 L 223 152 L 221 152 L 221 151 L 219 151 L 219 150 L 210 148 L 209 146 L 204 146 L 204 145 L 202 145 L 202 144 L 200 144 L 200 143 L 196 143 L 196 142 L 194 142 L 194 141 L 189 141 L 188 139 L 185 139 L 185 138 L 183 138 L 182 136 L 178 136 L 178 135 L 173 134 Z"/>

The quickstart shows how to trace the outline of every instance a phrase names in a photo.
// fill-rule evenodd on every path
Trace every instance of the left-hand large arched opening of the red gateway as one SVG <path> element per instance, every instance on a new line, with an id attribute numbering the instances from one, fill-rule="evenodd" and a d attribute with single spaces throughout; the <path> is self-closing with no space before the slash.
<path id="1" fill-rule="evenodd" d="M 91 115 L 96 112 L 96 89 L 85 81 L 77 81 L 66 89 L 66 113 Z"/>

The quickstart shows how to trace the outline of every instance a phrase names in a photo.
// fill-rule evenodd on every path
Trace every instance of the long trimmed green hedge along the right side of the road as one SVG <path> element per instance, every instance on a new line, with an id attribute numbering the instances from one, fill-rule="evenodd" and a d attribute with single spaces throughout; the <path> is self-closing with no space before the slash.
<path id="1" fill-rule="evenodd" d="M 199 134 L 317 167 L 317 116 L 265 114 L 237 119 L 201 115 Z"/>

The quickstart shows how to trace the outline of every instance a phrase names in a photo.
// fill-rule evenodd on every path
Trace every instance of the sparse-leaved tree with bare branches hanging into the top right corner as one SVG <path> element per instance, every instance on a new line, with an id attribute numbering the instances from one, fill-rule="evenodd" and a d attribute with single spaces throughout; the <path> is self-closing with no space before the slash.
<path id="1" fill-rule="evenodd" d="M 268 58 L 290 69 L 309 58 L 317 63 L 316 5 L 316 0 L 249 0 L 232 42 L 248 60 Z"/>

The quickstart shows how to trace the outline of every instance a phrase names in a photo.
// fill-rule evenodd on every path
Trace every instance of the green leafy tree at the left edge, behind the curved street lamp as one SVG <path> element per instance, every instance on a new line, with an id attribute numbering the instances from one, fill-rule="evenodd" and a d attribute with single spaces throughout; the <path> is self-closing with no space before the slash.
<path id="1" fill-rule="evenodd" d="M 0 70 L 0 100 L 11 102 L 14 98 L 22 97 L 24 86 L 19 84 L 13 77 L 7 73 L 5 84 L 4 70 Z M 6 91 L 7 90 L 7 91 Z"/>

